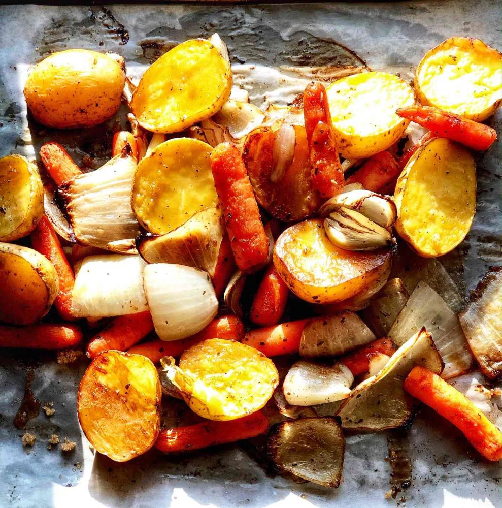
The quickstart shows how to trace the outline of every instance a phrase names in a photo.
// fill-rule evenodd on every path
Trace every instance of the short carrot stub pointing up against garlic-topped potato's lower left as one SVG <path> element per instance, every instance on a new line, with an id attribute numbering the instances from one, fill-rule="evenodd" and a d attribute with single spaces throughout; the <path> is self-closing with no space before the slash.
<path id="1" fill-rule="evenodd" d="M 261 279 L 251 305 L 249 319 L 259 326 L 275 325 L 281 319 L 288 301 L 289 289 L 273 263 Z"/>

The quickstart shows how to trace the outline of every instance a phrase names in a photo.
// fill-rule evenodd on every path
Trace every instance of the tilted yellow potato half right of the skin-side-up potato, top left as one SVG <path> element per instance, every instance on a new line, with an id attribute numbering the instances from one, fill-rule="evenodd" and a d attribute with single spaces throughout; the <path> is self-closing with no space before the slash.
<path id="1" fill-rule="evenodd" d="M 148 68 L 130 105 L 144 129 L 179 132 L 213 116 L 230 97 L 231 88 L 232 70 L 217 46 L 192 39 Z"/>

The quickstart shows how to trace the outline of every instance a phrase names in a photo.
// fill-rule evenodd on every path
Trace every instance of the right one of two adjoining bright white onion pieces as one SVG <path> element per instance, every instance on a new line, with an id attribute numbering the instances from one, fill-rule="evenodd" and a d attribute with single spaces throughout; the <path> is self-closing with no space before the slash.
<path id="1" fill-rule="evenodd" d="M 145 266 L 145 294 L 155 332 L 162 340 L 184 339 L 205 328 L 218 312 L 210 276 L 191 266 Z"/>

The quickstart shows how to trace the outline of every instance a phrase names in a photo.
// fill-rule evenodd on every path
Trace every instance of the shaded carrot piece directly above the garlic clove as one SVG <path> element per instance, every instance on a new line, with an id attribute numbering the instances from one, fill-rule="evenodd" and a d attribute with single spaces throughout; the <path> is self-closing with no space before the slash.
<path id="1" fill-rule="evenodd" d="M 359 182 L 367 190 L 381 192 L 390 182 L 396 180 L 401 172 L 395 157 L 388 151 L 372 155 L 346 183 Z"/>

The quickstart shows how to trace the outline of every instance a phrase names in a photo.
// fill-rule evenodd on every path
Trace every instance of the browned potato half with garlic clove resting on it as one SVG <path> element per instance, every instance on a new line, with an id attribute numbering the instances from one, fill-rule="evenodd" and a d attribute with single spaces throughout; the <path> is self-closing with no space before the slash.
<path id="1" fill-rule="evenodd" d="M 391 250 L 349 251 L 334 246 L 321 219 L 285 230 L 274 248 L 274 264 L 291 291 L 311 303 L 351 298 L 387 270 Z"/>

